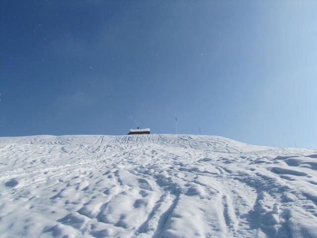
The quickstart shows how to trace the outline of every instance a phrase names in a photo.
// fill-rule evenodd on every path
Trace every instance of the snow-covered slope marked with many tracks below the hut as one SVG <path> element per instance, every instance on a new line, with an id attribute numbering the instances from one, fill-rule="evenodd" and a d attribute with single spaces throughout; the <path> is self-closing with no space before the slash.
<path id="1" fill-rule="evenodd" d="M 317 150 L 218 136 L 0 137 L 0 237 L 317 237 Z"/>

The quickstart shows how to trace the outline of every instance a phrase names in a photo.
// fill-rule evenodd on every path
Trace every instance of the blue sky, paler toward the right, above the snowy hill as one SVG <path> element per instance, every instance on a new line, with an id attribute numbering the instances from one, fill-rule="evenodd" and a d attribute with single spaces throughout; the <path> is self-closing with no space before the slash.
<path id="1" fill-rule="evenodd" d="M 316 0 L 1 0 L 0 136 L 317 148 Z"/>

